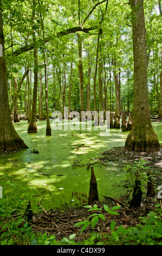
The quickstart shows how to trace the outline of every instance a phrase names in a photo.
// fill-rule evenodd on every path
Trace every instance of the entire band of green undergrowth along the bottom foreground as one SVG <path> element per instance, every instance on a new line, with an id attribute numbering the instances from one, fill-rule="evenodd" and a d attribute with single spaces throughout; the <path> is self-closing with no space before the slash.
<path id="1" fill-rule="evenodd" d="M 136 227 L 125 228 L 123 225 L 116 227 L 116 222 L 113 220 L 109 225 L 110 231 L 107 234 L 102 231 L 105 215 L 100 213 L 101 208 L 96 204 L 93 206 L 86 205 L 84 207 L 91 214 L 87 220 L 77 222 L 75 227 L 82 227 L 80 231 L 82 235 L 89 225 L 93 230 L 96 224 L 100 222 L 99 231 L 92 231 L 80 242 L 75 241 L 76 233 L 57 240 L 55 235 L 49 235 L 47 232 L 42 234 L 32 230 L 33 224 L 29 220 L 27 205 L 32 200 L 34 190 L 24 189 L 16 182 L 12 183 L 9 177 L 5 175 L 3 175 L 3 182 L 3 198 L 0 199 L 1 245 L 162 245 L 160 204 L 156 204 L 155 210 L 150 211 L 147 216 L 139 217 L 140 223 Z M 10 187 L 16 188 L 16 198 L 11 194 Z M 5 193 L 5 188 L 7 193 Z M 111 215 L 119 215 L 118 209 L 120 207 L 121 205 L 116 205 L 109 208 L 108 205 L 103 204 L 105 213 L 108 212 Z"/>

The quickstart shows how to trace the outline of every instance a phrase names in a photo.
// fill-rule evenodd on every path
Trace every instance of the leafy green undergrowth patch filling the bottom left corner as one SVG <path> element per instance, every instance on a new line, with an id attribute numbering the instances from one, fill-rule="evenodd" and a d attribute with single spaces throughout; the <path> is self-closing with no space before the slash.
<path id="1" fill-rule="evenodd" d="M 12 181 L 11 175 L 2 175 L 1 178 L 3 197 L 0 199 L 0 244 L 29 245 L 34 234 L 31 232 L 30 223 L 26 221 L 25 210 L 34 191 L 22 188 L 17 182 Z"/>

